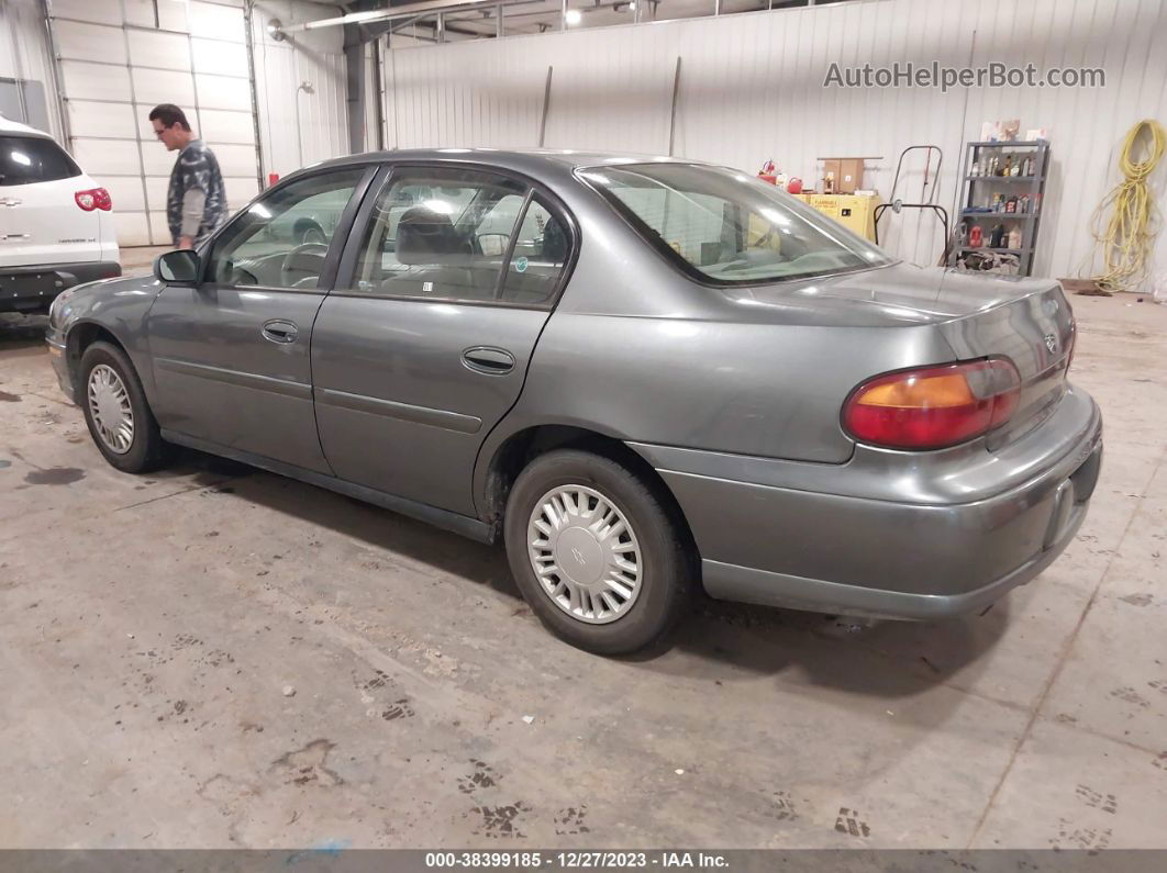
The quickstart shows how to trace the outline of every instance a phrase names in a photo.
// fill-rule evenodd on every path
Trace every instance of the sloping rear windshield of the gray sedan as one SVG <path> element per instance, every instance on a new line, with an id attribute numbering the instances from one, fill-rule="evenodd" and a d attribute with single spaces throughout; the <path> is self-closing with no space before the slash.
<path id="1" fill-rule="evenodd" d="M 886 253 L 774 185 L 719 167 L 620 164 L 586 181 L 701 281 L 750 284 L 879 267 Z"/>

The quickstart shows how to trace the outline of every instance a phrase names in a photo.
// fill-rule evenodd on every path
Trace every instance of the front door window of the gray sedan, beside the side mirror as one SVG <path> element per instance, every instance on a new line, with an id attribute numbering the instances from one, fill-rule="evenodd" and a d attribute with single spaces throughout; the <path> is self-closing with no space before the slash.
<path id="1" fill-rule="evenodd" d="M 215 241 L 208 276 L 221 286 L 314 289 L 364 168 L 298 179 L 257 200 Z"/>

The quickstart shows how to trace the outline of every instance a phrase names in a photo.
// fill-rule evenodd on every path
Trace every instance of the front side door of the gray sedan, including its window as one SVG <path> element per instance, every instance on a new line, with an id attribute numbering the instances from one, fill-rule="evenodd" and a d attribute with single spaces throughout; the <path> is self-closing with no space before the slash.
<path id="1" fill-rule="evenodd" d="M 153 406 L 162 428 L 330 472 L 313 415 L 312 329 L 345 228 L 375 174 L 340 168 L 273 189 L 202 249 L 200 284 L 162 289 L 148 316 Z M 317 218 L 337 198 L 349 204 L 348 220 L 323 241 L 272 232 Z"/>

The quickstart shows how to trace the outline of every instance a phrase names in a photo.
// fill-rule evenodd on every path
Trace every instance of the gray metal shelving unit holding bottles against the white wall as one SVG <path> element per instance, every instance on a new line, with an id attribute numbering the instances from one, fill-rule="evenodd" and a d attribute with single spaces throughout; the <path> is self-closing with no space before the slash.
<path id="1" fill-rule="evenodd" d="M 1032 157 L 1033 173 L 1028 176 L 985 175 L 983 168 L 985 168 L 991 157 L 997 157 L 1000 166 L 1005 164 L 1006 159 L 1025 161 L 1025 159 Z M 973 173 L 973 167 L 981 168 L 981 171 Z M 1041 209 L 1046 199 L 1046 179 L 1049 176 L 1049 143 L 1044 140 L 965 143 L 964 166 L 960 168 L 960 176 L 964 179 L 964 188 L 960 197 L 959 220 L 965 227 L 965 238 L 967 239 L 973 225 L 980 225 L 984 245 L 973 247 L 965 244 L 956 247 L 950 262 L 955 266 L 969 252 L 1015 254 L 1020 262 L 1019 274 L 1022 276 L 1030 275 L 1033 273 L 1033 256 L 1037 249 Z M 1029 211 L 984 211 L 985 206 L 992 204 L 993 195 L 1001 195 L 1002 200 L 1008 200 L 1013 197 L 1018 202 L 1020 202 L 1021 197 L 1028 197 Z M 1013 228 L 1014 224 L 1020 226 L 1021 247 L 990 246 L 988 238 L 995 224 L 1002 225 L 1006 234 Z"/>

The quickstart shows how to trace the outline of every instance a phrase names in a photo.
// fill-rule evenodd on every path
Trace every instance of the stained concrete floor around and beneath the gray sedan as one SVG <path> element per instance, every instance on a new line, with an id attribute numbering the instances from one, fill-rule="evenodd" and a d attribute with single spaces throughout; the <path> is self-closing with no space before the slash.
<path id="1" fill-rule="evenodd" d="M 546 634 L 499 551 L 117 473 L 9 326 L 0 846 L 1167 847 L 1167 308 L 1074 304 L 1107 455 L 1037 580 L 934 625 L 708 604 L 642 661 Z"/>

